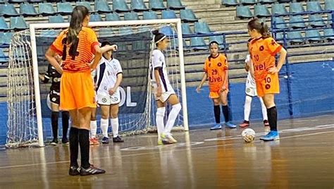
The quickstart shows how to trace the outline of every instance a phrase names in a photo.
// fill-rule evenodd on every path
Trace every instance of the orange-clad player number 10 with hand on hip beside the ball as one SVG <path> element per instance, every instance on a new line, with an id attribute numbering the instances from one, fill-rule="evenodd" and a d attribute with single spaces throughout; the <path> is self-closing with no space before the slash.
<path id="1" fill-rule="evenodd" d="M 250 70 L 254 75 L 257 95 L 264 100 L 266 105 L 271 128 L 271 131 L 260 140 L 279 140 L 274 94 L 280 93 L 278 72 L 283 66 L 287 51 L 270 36 L 266 23 L 261 22 L 258 18 L 250 20 L 247 27 L 249 36 L 253 38 L 249 42 L 249 54 L 253 62 Z M 276 54 L 280 55 L 277 66 Z"/>

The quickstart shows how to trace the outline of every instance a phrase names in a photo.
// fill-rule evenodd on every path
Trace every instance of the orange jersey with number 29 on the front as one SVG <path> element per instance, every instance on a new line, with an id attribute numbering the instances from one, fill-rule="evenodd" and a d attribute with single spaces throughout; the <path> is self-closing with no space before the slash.
<path id="1" fill-rule="evenodd" d="M 228 69 L 228 61 L 223 54 L 216 58 L 209 56 L 204 63 L 204 71 L 209 78 L 209 90 L 211 92 L 221 91 L 225 81 L 225 71 Z M 228 82 L 226 82 L 228 88 Z"/>

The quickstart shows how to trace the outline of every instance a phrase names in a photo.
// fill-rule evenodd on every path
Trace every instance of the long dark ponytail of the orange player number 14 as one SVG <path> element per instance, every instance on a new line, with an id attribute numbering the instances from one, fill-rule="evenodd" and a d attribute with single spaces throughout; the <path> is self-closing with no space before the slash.
<path id="1" fill-rule="evenodd" d="M 78 34 L 82 28 L 82 22 L 89 15 L 88 8 L 85 6 L 75 6 L 70 18 L 70 28 L 68 28 L 67 44 L 76 43 Z"/>

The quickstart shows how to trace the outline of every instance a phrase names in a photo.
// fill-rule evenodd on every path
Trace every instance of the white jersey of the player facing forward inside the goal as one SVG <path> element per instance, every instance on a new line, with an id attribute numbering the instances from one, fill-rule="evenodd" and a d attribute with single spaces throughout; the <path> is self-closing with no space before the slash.
<path id="1" fill-rule="evenodd" d="M 117 59 L 107 60 L 102 56 L 96 69 L 97 95 L 109 96 L 109 90 L 116 84 L 117 75 L 122 72 Z M 119 89 L 115 93 L 119 93 Z"/>

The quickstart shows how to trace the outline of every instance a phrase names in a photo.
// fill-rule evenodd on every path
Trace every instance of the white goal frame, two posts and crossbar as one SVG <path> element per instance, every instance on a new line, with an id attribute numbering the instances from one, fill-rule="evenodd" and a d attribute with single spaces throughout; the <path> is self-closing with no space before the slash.
<path id="1" fill-rule="evenodd" d="M 181 113 L 183 118 L 183 130 L 189 130 L 188 126 L 188 116 L 187 116 L 187 94 L 186 94 L 186 83 L 185 83 L 185 63 L 184 63 L 184 54 L 183 54 L 183 37 L 181 29 L 181 20 L 178 19 L 159 19 L 159 20 L 124 20 L 124 21 L 104 21 L 104 22 L 90 22 L 89 27 L 92 28 L 103 28 L 103 27 L 120 27 L 120 26 L 137 26 L 138 28 L 144 27 L 145 25 L 175 25 L 176 35 L 174 36 L 177 39 L 177 55 L 178 57 L 178 66 L 179 66 L 179 75 L 180 75 L 180 97 L 181 103 L 183 106 L 183 111 Z M 142 25 L 142 26 L 141 26 Z M 41 95 L 39 87 L 39 64 L 37 57 L 37 30 L 48 30 L 48 29 L 63 29 L 68 28 L 69 23 L 38 23 L 30 24 L 30 46 L 31 46 L 31 59 L 32 59 L 32 72 L 33 72 L 33 87 L 35 91 L 35 112 L 36 122 L 37 122 L 37 141 L 39 147 L 44 146 L 44 129 L 42 121 L 42 105 L 41 105 Z M 126 37 L 126 36 L 125 36 Z M 176 54 L 176 53 L 175 53 Z M 12 55 L 14 56 L 14 55 Z M 14 57 L 12 57 L 13 59 Z M 120 60 L 122 63 L 122 60 Z M 148 75 L 147 75 L 148 77 Z M 149 86 L 148 86 L 149 87 Z M 8 110 L 9 111 L 9 110 Z M 150 113 L 149 113 L 150 114 Z"/>

